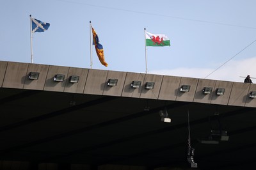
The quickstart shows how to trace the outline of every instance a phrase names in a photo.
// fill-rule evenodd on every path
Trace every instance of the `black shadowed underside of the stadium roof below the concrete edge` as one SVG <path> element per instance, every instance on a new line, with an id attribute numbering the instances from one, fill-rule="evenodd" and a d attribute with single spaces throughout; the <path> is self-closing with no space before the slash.
<path id="1" fill-rule="evenodd" d="M 0 160 L 189 167 L 189 114 L 199 169 L 255 162 L 256 108 L 9 88 L 0 94 Z M 228 141 L 211 130 L 227 131 Z"/>

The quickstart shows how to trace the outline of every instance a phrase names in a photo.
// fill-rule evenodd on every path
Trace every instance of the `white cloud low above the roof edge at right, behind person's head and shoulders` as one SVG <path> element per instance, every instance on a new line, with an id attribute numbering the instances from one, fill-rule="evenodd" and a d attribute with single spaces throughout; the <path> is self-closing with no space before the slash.
<path id="1" fill-rule="evenodd" d="M 222 64 L 223 63 L 221 63 L 220 65 Z M 214 69 L 180 67 L 175 69 L 152 70 L 150 73 L 160 74 L 160 75 L 173 75 L 173 76 L 180 76 L 180 77 L 193 77 L 193 78 L 200 78 L 200 79 L 214 79 L 214 80 L 220 80 L 220 81 L 243 82 L 244 81 L 243 77 L 246 77 L 246 75 L 251 75 L 251 77 L 256 77 L 255 64 L 256 64 L 256 57 L 229 61 L 225 65 L 221 66 L 218 70 L 216 70 L 218 66 L 216 66 L 216 68 Z M 214 70 L 216 71 L 213 72 Z M 209 75 L 210 73 L 211 75 Z M 243 77 L 240 77 L 240 76 L 243 76 Z M 256 79 L 252 79 L 252 81 L 256 82 Z"/>

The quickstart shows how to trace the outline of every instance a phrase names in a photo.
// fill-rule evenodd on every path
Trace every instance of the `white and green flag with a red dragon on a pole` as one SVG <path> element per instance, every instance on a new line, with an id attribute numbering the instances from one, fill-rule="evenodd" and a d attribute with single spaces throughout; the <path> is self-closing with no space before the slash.
<path id="1" fill-rule="evenodd" d="M 146 46 L 170 46 L 170 39 L 166 35 L 153 35 L 145 31 Z"/>

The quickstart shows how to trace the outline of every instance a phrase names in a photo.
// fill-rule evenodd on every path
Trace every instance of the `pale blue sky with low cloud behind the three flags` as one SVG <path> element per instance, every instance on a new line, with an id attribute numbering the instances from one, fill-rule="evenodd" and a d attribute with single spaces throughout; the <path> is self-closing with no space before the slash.
<path id="1" fill-rule="evenodd" d="M 93 69 L 145 73 L 146 28 L 171 41 L 147 47 L 148 73 L 243 82 L 239 76 L 256 77 L 255 6 L 254 0 L 1 0 L 0 60 L 30 63 L 32 15 L 51 24 L 33 34 L 33 63 L 90 68 L 91 20 L 109 65 L 100 64 L 93 47 Z"/>

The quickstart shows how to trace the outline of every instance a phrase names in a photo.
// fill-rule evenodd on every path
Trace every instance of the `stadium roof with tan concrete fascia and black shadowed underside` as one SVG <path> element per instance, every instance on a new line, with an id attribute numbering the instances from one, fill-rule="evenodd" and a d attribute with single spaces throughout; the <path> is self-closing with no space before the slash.
<path id="1" fill-rule="evenodd" d="M 38 79 L 28 79 L 31 72 Z M 63 81 L 54 81 L 56 74 L 65 75 Z M 79 81 L 70 82 L 71 75 Z M 116 86 L 108 86 L 109 79 L 117 79 Z M 141 86 L 132 88 L 133 81 Z M 146 89 L 147 82 L 154 88 Z M 189 91 L 180 91 L 185 85 Z M 205 87 L 211 93 L 204 94 Z M 251 167 L 251 91 L 255 84 L 0 61 L 0 160 L 186 168 L 189 114 L 200 169 Z M 161 121 L 159 111 L 172 121 Z"/>

